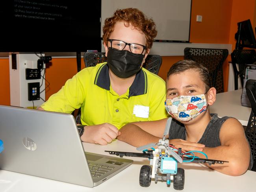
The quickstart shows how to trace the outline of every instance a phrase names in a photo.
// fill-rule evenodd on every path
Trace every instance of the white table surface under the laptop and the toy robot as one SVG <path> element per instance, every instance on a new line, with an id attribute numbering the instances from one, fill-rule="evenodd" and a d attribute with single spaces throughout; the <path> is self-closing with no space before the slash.
<path id="1" fill-rule="evenodd" d="M 104 150 L 137 152 L 134 147 L 119 140 L 113 141 L 107 146 L 89 143 L 83 143 L 83 146 L 85 151 L 105 155 Z M 139 170 L 143 164 L 149 164 L 148 159 L 139 157 L 126 158 L 133 159 L 134 163 L 119 174 L 93 188 L 0 170 L 0 192 L 176 191 L 173 189 L 173 183 L 171 183 L 170 187 L 167 187 L 166 182 L 160 181 L 157 184 L 152 181 L 149 187 L 141 187 L 139 185 Z M 244 175 L 232 177 L 197 163 L 183 163 L 179 164 L 179 166 L 185 169 L 185 187 L 182 192 L 255 191 L 256 172 L 247 171 Z"/>

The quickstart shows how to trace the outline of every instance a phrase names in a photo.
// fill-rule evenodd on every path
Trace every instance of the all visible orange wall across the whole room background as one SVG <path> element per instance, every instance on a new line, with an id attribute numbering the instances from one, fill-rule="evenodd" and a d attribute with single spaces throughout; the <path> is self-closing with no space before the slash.
<path id="1" fill-rule="evenodd" d="M 255 7 L 255 0 L 192 0 L 190 42 L 233 44 L 234 49 L 237 22 L 250 18 L 254 25 Z M 196 22 L 196 15 L 202 15 L 202 22 Z M 183 58 L 183 56 L 163 57 L 159 76 L 166 79 L 170 66 Z M 225 91 L 228 86 L 228 61 L 230 55 L 223 65 Z M 82 66 L 84 66 L 83 61 Z M 46 99 L 57 92 L 74 74 L 76 74 L 75 58 L 52 59 L 52 65 L 46 69 L 46 79 L 50 82 L 50 86 L 46 89 Z M 0 94 L 0 104 L 9 105 L 8 59 L 0 59 L 0 91 L 4 92 Z"/>

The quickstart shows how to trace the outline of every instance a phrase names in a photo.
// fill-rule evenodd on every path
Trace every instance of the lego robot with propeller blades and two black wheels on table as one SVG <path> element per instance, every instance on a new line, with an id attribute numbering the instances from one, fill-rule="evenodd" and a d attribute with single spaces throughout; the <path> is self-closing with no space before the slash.
<path id="1" fill-rule="evenodd" d="M 177 149 L 170 145 L 169 140 L 166 139 L 166 135 L 169 132 L 171 120 L 172 118 L 167 120 L 163 138 L 161 138 L 158 143 L 150 143 L 137 148 L 138 151 L 143 151 L 143 153 L 106 151 L 111 155 L 118 155 L 120 157 L 145 157 L 150 159 L 150 166 L 143 165 L 140 170 L 139 184 L 143 187 L 150 186 L 151 179 L 154 179 L 155 183 L 158 181 L 166 181 L 167 186 L 170 186 L 171 182 L 173 182 L 174 189 L 182 190 L 184 188 L 185 172 L 183 168 L 178 168 L 178 162 L 199 162 L 209 165 L 228 162 L 208 159 L 206 154 L 206 159 L 200 159 L 195 157 L 195 155 L 183 153 L 181 148 Z M 193 152 L 190 154 L 193 154 Z"/>

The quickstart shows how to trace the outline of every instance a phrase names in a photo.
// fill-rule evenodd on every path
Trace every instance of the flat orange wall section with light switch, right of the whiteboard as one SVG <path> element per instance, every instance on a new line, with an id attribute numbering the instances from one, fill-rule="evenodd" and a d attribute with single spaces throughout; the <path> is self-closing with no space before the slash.
<path id="1" fill-rule="evenodd" d="M 231 8 L 232 0 L 192 0 L 190 42 L 227 44 Z"/>

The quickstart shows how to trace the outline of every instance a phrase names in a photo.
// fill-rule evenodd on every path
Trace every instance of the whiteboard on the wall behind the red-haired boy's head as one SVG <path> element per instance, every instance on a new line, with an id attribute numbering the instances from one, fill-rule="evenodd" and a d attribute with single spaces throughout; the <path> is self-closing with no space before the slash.
<path id="1" fill-rule="evenodd" d="M 189 42 L 191 0 L 103 0 L 101 2 L 102 26 L 116 9 L 137 8 L 156 22 L 156 41 Z"/>

